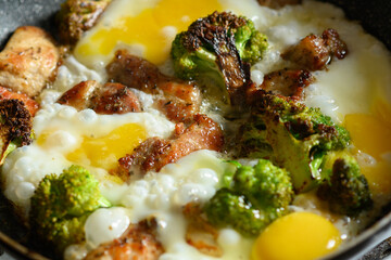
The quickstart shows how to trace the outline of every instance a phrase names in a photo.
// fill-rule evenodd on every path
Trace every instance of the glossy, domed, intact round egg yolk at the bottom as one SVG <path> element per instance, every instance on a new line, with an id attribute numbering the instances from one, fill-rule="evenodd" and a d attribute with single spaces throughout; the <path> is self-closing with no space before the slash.
<path id="1" fill-rule="evenodd" d="M 326 218 L 294 212 L 277 219 L 257 237 L 252 260 L 312 260 L 338 248 L 340 233 Z"/>

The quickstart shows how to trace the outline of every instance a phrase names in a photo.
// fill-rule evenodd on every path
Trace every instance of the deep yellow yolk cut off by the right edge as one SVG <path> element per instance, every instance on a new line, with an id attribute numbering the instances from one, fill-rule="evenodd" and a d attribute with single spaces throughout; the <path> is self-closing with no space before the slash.
<path id="1" fill-rule="evenodd" d="M 384 154 L 391 153 L 391 109 L 381 100 L 375 104 L 373 114 L 346 115 L 344 126 L 355 147 L 376 159 L 374 165 L 358 160 L 369 188 L 374 193 L 391 194 L 391 165 L 384 159 Z"/>

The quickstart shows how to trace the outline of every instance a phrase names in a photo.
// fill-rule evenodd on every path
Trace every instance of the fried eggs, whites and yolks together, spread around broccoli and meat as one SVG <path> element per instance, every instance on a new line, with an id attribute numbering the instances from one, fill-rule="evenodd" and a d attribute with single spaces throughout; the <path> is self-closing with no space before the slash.
<path id="1" fill-rule="evenodd" d="M 288 46 L 329 27 L 340 32 L 350 54 L 332 62 L 327 70 L 314 74 L 317 80 L 305 90 L 305 103 L 320 107 L 344 123 L 371 191 L 391 195 L 391 182 L 383 181 L 390 179 L 391 172 L 390 54 L 357 24 L 348 22 L 340 9 L 314 1 L 276 11 L 260 6 L 255 0 L 115 0 L 60 67 L 53 88 L 41 94 L 42 109 L 34 119 L 36 140 L 13 152 L 2 168 L 4 194 L 24 214 L 28 213 L 29 198 L 46 174 L 60 174 L 70 165 L 78 164 L 98 178 L 103 196 L 116 207 L 99 209 L 88 218 L 86 244 L 70 246 L 65 259 L 81 259 L 99 244 L 119 237 L 129 223 L 149 216 L 157 219 L 159 237 L 165 248 L 160 259 L 216 259 L 186 243 L 181 207 L 190 202 L 206 202 L 214 195 L 227 167 L 222 162 L 222 154 L 194 152 L 163 167 L 159 173 L 149 172 L 141 180 L 124 183 L 108 174 L 116 160 L 149 136 L 169 136 L 175 127 L 149 108 L 151 96 L 138 93 L 147 109 L 125 115 L 77 112 L 54 103 L 80 80 L 104 82 L 104 66 L 119 48 L 171 72 L 169 48 L 175 35 L 215 10 L 245 15 L 268 37 L 265 57 L 252 67 L 251 76 L 256 83 L 262 83 L 267 73 L 283 68 L 280 53 Z M 341 240 L 355 234 L 349 230 L 353 229 L 352 220 L 341 220 L 342 224 L 330 222 L 335 217 L 323 213 L 316 202 L 299 200 L 292 211 L 300 212 L 277 220 L 257 238 L 243 237 L 232 229 L 222 230 L 218 243 L 225 253 L 220 259 L 294 259 L 293 255 L 299 256 L 297 259 L 304 256 L 312 259 L 332 251 Z M 320 233 L 314 234 L 312 226 Z M 300 234 L 289 233 L 291 227 Z M 280 250 L 281 240 L 289 245 L 289 250 Z"/>

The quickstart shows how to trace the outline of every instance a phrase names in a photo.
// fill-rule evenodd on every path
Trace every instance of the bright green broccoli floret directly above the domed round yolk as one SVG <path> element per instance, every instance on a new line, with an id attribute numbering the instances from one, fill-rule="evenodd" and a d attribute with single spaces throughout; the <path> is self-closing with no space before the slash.
<path id="1" fill-rule="evenodd" d="M 244 235 L 257 235 L 288 212 L 293 197 L 290 177 L 265 159 L 254 167 L 236 165 L 231 183 L 216 192 L 204 211 L 216 226 L 232 226 Z"/>

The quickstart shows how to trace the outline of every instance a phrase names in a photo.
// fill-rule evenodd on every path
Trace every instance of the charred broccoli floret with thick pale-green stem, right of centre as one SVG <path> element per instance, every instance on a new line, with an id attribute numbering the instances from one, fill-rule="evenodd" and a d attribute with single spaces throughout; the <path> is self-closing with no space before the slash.
<path id="1" fill-rule="evenodd" d="M 319 108 L 262 90 L 258 95 L 252 113 L 258 120 L 256 123 L 264 127 L 251 132 L 252 140 L 269 144 L 264 153 L 291 173 L 297 193 L 316 187 L 327 177 L 327 171 L 323 170 L 325 155 L 329 151 L 346 148 L 349 132 L 335 125 Z M 253 118 L 250 125 L 254 123 Z M 257 155 L 262 154 L 264 146 L 256 146 L 261 151 L 255 150 Z"/>

